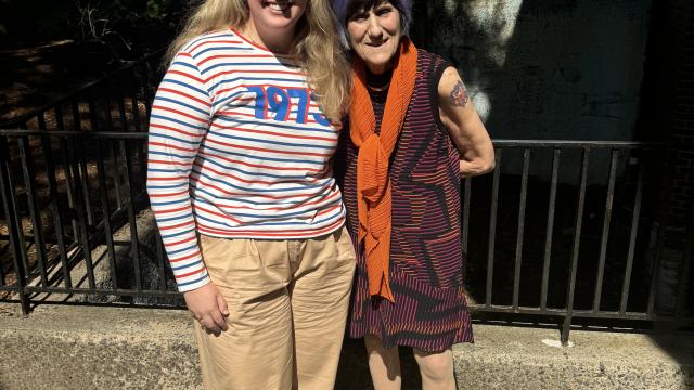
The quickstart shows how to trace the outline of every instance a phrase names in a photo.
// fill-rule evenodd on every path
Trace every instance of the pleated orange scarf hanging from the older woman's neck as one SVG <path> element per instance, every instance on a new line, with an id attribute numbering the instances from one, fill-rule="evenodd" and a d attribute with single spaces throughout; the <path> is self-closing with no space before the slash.
<path id="1" fill-rule="evenodd" d="M 369 292 L 394 302 L 388 277 L 390 260 L 390 180 L 388 161 L 395 150 L 404 115 L 414 91 L 416 48 L 402 38 L 393 69 L 381 133 L 367 90 L 363 62 L 352 60 L 352 90 L 349 107 L 349 134 L 359 148 L 357 159 L 358 242 L 363 240 Z"/>

